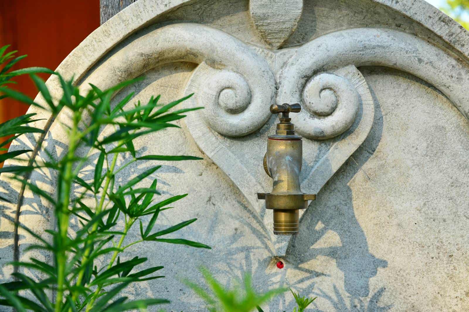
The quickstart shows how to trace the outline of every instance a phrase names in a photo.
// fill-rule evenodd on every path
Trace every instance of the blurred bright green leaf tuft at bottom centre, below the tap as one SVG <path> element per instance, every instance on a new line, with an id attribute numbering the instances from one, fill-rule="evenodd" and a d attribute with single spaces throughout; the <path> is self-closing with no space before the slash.
<path id="1" fill-rule="evenodd" d="M 256 309 L 262 311 L 260 305 L 286 291 L 280 288 L 257 294 L 252 288 L 249 275 L 244 276 L 243 286 L 237 283 L 233 289 L 229 290 L 221 285 L 206 268 L 200 268 L 200 271 L 211 289 L 210 292 L 205 291 L 196 283 L 190 281 L 185 281 L 185 283 L 205 301 L 210 312 L 251 312 Z"/>

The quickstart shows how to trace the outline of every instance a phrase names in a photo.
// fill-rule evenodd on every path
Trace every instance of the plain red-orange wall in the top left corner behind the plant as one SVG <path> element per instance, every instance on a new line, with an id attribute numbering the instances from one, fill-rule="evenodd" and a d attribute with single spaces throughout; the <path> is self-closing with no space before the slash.
<path id="1" fill-rule="evenodd" d="M 17 56 L 28 55 L 14 68 L 55 69 L 98 27 L 99 0 L 0 0 L 0 46 L 11 44 L 13 50 L 18 50 Z M 16 81 L 18 85 L 13 88 L 31 98 L 36 96 L 29 77 L 19 77 Z M 1 100 L 0 122 L 23 115 L 27 109 L 26 105 Z"/>

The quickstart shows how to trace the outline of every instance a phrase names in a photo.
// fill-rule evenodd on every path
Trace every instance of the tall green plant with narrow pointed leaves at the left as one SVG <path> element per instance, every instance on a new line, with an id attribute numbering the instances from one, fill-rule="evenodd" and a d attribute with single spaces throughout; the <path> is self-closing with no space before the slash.
<path id="1" fill-rule="evenodd" d="M 0 49 L 1 62 L 13 58 L 12 52 L 4 54 L 6 50 L 7 47 Z M 12 179 L 20 181 L 33 193 L 53 204 L 56 230 L 47 230 L 49 237 L 40 237 L 20 225 L 39 241 L 27 249 L 49 252 L 53 255 L 53 263 L 33 258 L 30 261 L 13 263 L 15 266 L 34 272 L 32 276 L 43 276 L 43 278 L 33 280 L 22 273 L 14 273 L 16 279 L 14 282 L 0 285 L 0 305 L 15 307 L 17 311 L 121 312 L 168 303 L 168 300 L 159 298 L 128 301 L 127 297 L 119 297 L 121 290 L 131 283 L 163 277 L 154 275 L 163 267 L 137 269 L 147 261 L 146 258 L 136 256 L 121 261 L 121 254 L 132 245 L 142 242 L 148 244 L 149 241 L 183 244 L 190 247 L 210 247 L 187 239 L 166 238 L 167 234 L 174 234 L 195 222 L 195 218 L 166 229 L 155 230 L 159 213 L 171 208 L 167 207 L 169 204 L 187 196 L 183 194 L 155 200 L 160 195 L 156 179 L 153 179 L 149 188 L 136 188 L 139 181 L 151 178 L 160 166 L 150 167 L 124 185 L 118 185 L 115 176 L 123 168 L 141 160 L 199 159 L 192 156 L 166 155 L 136 157 L 133 144 L 133 140 L 143 135 L 166 128 L 179 128 L 171 122 L 183 118 L 185 116 L 183 113 L 194 109 L 179 109 L 172 112 L 170 109 L 190 95 L 166 105 L 159 103 L 159 96 L 151 97 L 145 105 L 138 102 L 133 108 L 126 109 L 126 104 L 132 98 L 132 94 L 129 94 L 115 107 L 111 107 L 113 94 L 134 81 L 123 82 L 108 90 L 91 86 L 91 90 L 82 95 L 71 80 L 65 80 L 60 74 L 47 69 L 9 71 L 11 65 L 21 58 L 14 58 L 0 72 L 0 96 L 40 106 L 24 94 L 6 87 L 8 83 L 12 83 L 11 77 L 29 74 L 44 97 L 47 104 L 45 109 L 49 109 L 55 116 L 66 107 L 70 112 L 71 122 L 68 125 L 62 124 L 68 135 L 69 144 L 68 150 L 60 160 L 49 157 L 50 159 L 43 164 L 8 166 L 1 171 L 10 172 L 13 175 Z M 35 75 L 39 72 L 57 75 L 63 91 L 60 100 L 53 100 L 44 81 Z M 1 124 L 0 135 L 13 134 L 13 138 L 17 138 L 24 133 L 42 132 L 41 129 L 27 126 L 27 123 L 33 121 L 33 115 L 25 115 Z M 84 125 L 85 120 L 90 122 Z M 100 129 L 106 126 L 113 127 L 113 134 L 99 138 Z M 1 146 L 4 146 L 5 142 Z M 87 156 L 78 155 L 78 149 L 84 145 L 88 146 L 91 153 Z M 0 160 L 4 161 L 26 152 L 30 150 L 9 152 L 2 155 Z M 96 156 L 98 160 L 94 167 L 93 179 L 85 181 L 81 170 L 86 163 L 96 159 L 94 158 Z M 117 160 L 120 156 L 121 159 L 130 160 L 118 168 Z M 55 194 L 40 189 L 23 175 L 31 170 L 45 168 L 57 174 Z M 150 221 L 147 222 L 144 216 L 150 216 L 148 217 Z M 72 218 L 78 220 L 80 224 L 75 232 L 70 227 Z M 118 222 L 123 223 L 123 229 L 117 228 Z M 140 226 L 141 237 L 127 242 L 127 234 L 136 223 Z M 49 297 L 51 290 L 55 293 L 54 300 Z M 30 300 L 31 297 L 34 297 L 34 300 Z"/>

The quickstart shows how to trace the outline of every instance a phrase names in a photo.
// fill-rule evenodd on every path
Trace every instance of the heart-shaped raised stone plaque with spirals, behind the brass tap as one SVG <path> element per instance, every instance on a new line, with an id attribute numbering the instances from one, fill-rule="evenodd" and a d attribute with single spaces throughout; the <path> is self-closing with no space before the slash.
<path id="1" fill-rule="evenodd" d="M 275 57 L 267 59 L 271 66 L 278 64 Z M 265 225 L 266 235 L 271 238 L 276 253 L 283 254 L 288 237 L 274 237 L 272 212 L 266 211 L 263 201 L 259 201 L 256 196 L 257 192 L 269 192 L 272 189 L 272 180 L 265 174 L 262 161 L 267 136 L 274 133 L 277 118 L 272 116 L 258 131 L 238 136 L 238 121 L 243 127 L 246 122 L 253 123 L 253 128 L 258 127 L 261 116 L 271 104 L 265 101 L 263 105 L 252 106 L 254 98 L 270 98 L 270 89 L 263 88 L 262 83 L 259 85 L 260 81 L 257 81 L 256 85 L 248 84 L 250 88 L 246 90 L 246 81 L 235 69 L 217 69 L 205 62 L 200 64 L 185 90 L 185 94 L 196 95 L 185 106 L 204 106 L 205 109 L 190 114 L 185 123 L 199 148 L 230 177 L 246 197 L 251 215 Z M 229 96 L 224 94 L 226 92 L 230 93 Z M 367 137 L 373 122 L 374 106 L 366 81 L 353 65 L 311 77 L 303 88 L 302 105 L 304 116 L 297 119 L 293 116 L 293 122 L 298 122 L 305 135 L 302 189 L 305 193 L 316 194 Z M 314 111 L 324 107 L 332 109 L 320 117 L 322 124 L 329 126 L 329 123 L 336 123 L 341 115 L 346 117 L 348 124 L 335 130 L 330 135 L 333 138 L 310 139 L 313 135 L 307 133 L 307 129 L 309 126 L 317 127 L 315 124 L 318 123 L 318 117 L 313 116 Z M 214 122 L 217 125 L 212 127 Z M 216 131 L 219 125 L 229 123 L 234 124 L 234 127 L 223 127 L 222 134 Z"/>

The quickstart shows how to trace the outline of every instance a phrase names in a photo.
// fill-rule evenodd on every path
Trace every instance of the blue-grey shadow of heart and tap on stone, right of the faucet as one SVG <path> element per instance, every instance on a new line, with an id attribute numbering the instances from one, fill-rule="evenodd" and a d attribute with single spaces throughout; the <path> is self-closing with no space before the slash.
<path id="1" fill-rule="evenodd" d="M 376 258 L 369 251 L 365 233 L 355 217 L 353 193 L 348 187 L 348 182 L 362 170 L 363 164 L 376 150 L 382 136 L 382 112 L 373 90 L 371 94 L 375 102 L 375 117 L 369 136 L 318 192 L 317 200 L 311 202 L 310 207 L 303 214 L 300 232 L 290 240 L 285 255 L 285 258 L 297 267 L 311 260 L 317 260 L 321 256 L 335 260 L 337 268 L 344 274 L 343 287 L 350 295 L 350 308 L 345 304 L 336 285 L 333 286 L 333 295 L 320 290 L 317 296 L 330 301 L 336 311 L 386 311 L 389 309 L 389 307 L 378 309 L 377 303 L 375 304 L 377 309 L 374 310 L 356 308 L 364 306 L 363 300 L 365 299 L 363 298 L 370 294 L 371 277 L 376 276 L 378 268 L 387 267 L 386 260 Z M 333 231 L 339 236 L 340 246 L 313 247 L 328 231 Z M 303 286 L 301 291 L 310 294 L 313 287 L 314 284 Z M 369 306 L 371 301 L 378 300 L 383 292 L 384 288 L 381 288 L 372 295 Z M 336 299 L 333 299 L 334 296 Z M 315 301 L 314 304 L 318 305 L 320 301 Z"/>

